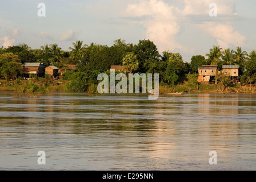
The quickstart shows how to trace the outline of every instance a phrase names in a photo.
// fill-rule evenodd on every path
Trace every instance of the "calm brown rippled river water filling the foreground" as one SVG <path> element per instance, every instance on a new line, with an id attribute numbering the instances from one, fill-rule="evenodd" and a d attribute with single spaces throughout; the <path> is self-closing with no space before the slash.
<path id="1" fill-rule="evenodd" d="M 256 96 L 1 92 L 0 169 L 255 170 Z"/>

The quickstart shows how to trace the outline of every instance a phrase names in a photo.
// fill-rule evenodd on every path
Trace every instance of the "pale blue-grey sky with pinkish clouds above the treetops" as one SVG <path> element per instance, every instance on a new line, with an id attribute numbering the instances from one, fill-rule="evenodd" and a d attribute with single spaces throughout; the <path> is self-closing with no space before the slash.
<path id="1" fill-rule="evenodd" d="M 39 3 L 45 16 L 38 16 Z M 76 40 L 112 46 L 120 38 L 149 39 L 159 53 L 178 52 L 190 62 L 213 46 L 251 52 L 255 32 L 255 0 L 0 0 L 0 47 L 57 43 L 67 51 Z"/>

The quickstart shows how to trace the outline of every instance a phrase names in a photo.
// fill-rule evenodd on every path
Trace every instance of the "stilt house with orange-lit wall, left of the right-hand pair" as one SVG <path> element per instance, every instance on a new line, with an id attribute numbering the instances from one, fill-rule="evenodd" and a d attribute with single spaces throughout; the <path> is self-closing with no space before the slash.
<path id="1" fill-rule="evenodd" d="M 215 81 L 217 84 L 217 65 L 203 65 L 198 68 L 198 82 L 201 84 L 210 84 L 210 82 Z"/>

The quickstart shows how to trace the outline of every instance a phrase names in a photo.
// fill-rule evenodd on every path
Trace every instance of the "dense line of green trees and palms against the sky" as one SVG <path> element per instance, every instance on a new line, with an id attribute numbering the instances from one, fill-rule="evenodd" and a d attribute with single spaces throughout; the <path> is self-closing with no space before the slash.
<path id="1" fill-rule="evenodd" d="M 58 44 L 46 44 L 40 49 L 31 49 L 27 44 L 2 47 L 0 76 L 6 80 L 17 78 L 22 74 L 23 63 L 40 62 L 46 67 L 55 65 L 58 68 L 65 64 L 76 64 L 77 72 L 67 72 L 64 78 L 73 82 L 77 80 L 76 84 L 85 81 L 86 85 L 79 89 L 85 90 L 88 85 L 97 83 L 99 73 L 109 72 L 111 65 L 123 65 L 130 73 L 159 73 L 160 82 L 173 85 L 186 81 L 188 74 L 198 74 L 198 67 L 202 65 L 218 65 L 219 70 L 222 65 L 239 65 L 241 82 L 253 84 L 256 81 L 256 52 L 248 54 L 241 47 L 234 51 L 213 46 L 206 53 L 206 58 L 196 55 L 188 63 L 179 53 L 163 51 L 160 54 L 154 42 L 145 39 L 137 44 L 118 39 L 110 47 L 95 43 L 87 45 L 80 40 L 72 44 L 69 51 L 63 51 Z"/>

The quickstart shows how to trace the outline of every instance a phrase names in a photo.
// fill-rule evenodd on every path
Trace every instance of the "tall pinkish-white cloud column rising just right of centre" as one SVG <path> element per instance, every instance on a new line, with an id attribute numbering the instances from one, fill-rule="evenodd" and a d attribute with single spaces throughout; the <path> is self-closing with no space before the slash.
<path id="1" fill-rule="evenodd" d="M 130 16 L 148 16 L 146 19 L 140 19 L 139 23 L 146 28 L 145 38 L 152 40 L 159 52 L 183 48 L 175 39 L 180 29 L 178 11 L 174 6 L 157 0 L 141 0 L 127 7 Z"/>

